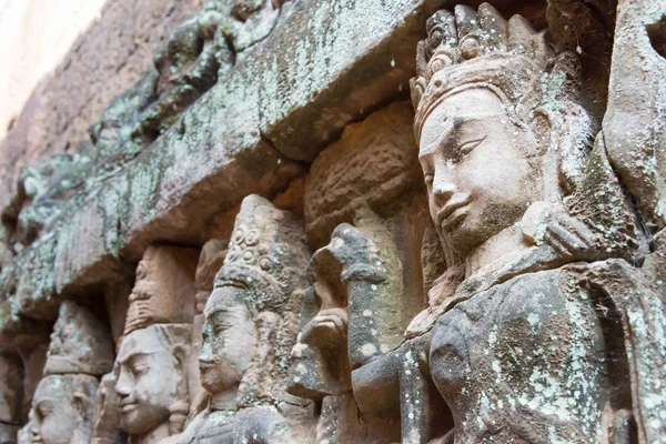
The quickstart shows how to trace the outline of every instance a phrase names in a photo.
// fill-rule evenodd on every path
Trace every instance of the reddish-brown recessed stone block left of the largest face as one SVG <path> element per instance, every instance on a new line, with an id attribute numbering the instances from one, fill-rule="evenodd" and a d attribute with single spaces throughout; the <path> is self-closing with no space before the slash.
<path id="1" fill-rule="evenodd" d="M 305 184 L 307 235 L 314 245 L 363 208 L 382 211 L 422 185 L 412 134 L 414 111 L 393 103 L 345 128 L 313 162 Z"/>

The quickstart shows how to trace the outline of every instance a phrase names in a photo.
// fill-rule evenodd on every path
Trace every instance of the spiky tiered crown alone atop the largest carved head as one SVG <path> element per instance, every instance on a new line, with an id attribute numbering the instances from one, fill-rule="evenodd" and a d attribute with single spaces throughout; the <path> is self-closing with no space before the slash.
<path id="1" fill-rule="evenodd" d="M 578 92 L 577 58 L 554 54 L 545 32 L 535 31 L 521 16 L 506 21 L 487 3 L 478 10 L 457 6 L 454 12 L 435 12 L 426 31 L 417 48 L 417 77 L 411 81 L 417 137 L 442 98 L 466 84 L 493 89 L 516 108 L 518 118 L 543 104 L 547 94 L 557 99 Z"/>

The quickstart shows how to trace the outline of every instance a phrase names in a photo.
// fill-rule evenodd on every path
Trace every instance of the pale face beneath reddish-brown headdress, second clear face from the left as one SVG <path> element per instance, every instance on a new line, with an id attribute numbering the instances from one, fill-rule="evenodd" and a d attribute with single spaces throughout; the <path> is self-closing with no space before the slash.
<path id="1" fill-rule="evenodd" d="M 132 435 L 145 434 L 169 420 L 180 382 L 179 360 L 155 327 L 130 333 L 118 353 L 120 425 Z"/>

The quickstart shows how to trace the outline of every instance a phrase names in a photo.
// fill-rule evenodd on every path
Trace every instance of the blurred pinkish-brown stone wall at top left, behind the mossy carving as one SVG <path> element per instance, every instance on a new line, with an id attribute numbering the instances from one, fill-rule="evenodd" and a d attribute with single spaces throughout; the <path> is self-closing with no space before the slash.
<path id="1" fill-rule="evenodd" d="M 37 85 L 2 142 L 0 201 L 9 198 L 23 165 L 71 152 L 87 140 L 89 127 L 111 100 L 143 74 L 162 40 L 200 6 L 199 0 L 107 2 L 103 19 Z"/>

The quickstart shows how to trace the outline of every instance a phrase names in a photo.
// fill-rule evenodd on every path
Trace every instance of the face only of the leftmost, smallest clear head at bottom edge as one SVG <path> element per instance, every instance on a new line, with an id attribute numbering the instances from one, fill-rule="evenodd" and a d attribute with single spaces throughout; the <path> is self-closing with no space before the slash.
<path id="1" fill-rule="evenodd" d="M 79 411 L 68 376 L 42 379 L 32 398 L 30 432 L 33 443 L 69 444 L 77 428 Z"/>

